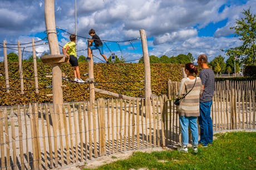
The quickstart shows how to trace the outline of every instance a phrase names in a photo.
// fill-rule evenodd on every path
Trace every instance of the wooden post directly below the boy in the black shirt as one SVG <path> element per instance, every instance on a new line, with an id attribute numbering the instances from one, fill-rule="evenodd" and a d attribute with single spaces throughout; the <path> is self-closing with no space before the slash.
<path id="1" fill-rule="evenodd" d="M 88 41 L 88 48 L 91 46 L 91 42 Z M 88 61 L 88 76 L 89 79 L 94 81 L 94 75 L 93 75 L 93 57 L 92 57 L 92 53 L 91 53 L 91 60 Z M 89 84 L 89 91 L 90 91 L 90 96 L 89 96 L 89 101 L 90 101 L 90 105 L 92 105 L 92 103 L 94 103 L 95 101 L 95 87 L 93 83 Z"/>

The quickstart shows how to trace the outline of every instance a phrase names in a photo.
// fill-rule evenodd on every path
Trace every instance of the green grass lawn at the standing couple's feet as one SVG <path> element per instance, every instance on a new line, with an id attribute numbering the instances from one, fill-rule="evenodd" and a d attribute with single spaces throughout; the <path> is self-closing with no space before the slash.
<path id="1" fill-rule="evenodd" d="M 179 151 L 134 152 L 98 169 L 256 169 L 256 132 L 216 133 L 212 145 Z"/>

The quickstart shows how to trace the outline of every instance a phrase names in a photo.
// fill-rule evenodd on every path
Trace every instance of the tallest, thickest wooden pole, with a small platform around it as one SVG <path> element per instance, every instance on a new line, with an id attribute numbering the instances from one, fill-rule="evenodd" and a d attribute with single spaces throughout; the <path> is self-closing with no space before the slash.
<path id="1" fill-rule="evenodd" d="M 50 48 L 51 55 L 60 54 L 60 49 L 58 48 L 58 39 L 55 25 L 55 9 L 54 0 L 45 0 L 45 24 L 46 32 L 48 38 L 48 44 Z M 57 108 L 62 112 L 63 104 L 63 94 L 62 94 L 62 73 L 61 64 L 52 64 L 52 94 L 53 94 L 53 111 L 57 113 Z M 63 117 L 63 116 L 60 116 Z M 57 120 L 57 115 L 55 115 Z M 62 119 L 61 119 L 62 120 Z M 62 123 L 62 121 L 61 121 Z"/>

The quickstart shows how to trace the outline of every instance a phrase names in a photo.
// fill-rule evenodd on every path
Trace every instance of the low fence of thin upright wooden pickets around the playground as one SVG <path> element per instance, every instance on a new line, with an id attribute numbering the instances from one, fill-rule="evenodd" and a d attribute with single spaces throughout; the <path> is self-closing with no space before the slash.
<path id="1" fill-rule="evenodd" d="M 169 87 L 175 91 L 178 83 L 170 82 Z M 215 89 L 214 131 L 255 129 L 255 81 L 217 82 Z M 67 103 L 61 114 L 53 112 L 52 104 L 2 107 L 0 167 L 60 168 L 115 152 L 177 145 L 180 131 L 174 96 L 98 99 L 92 106 Z"/>

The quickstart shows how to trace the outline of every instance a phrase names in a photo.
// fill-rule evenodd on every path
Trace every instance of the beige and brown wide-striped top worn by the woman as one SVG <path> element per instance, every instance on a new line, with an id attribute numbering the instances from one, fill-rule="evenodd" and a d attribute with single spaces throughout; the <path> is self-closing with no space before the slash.
<path id="1" fill-rule="evenodd" d="M 192 89 L 195 79 L 183 78 L 180 83 L 178 97 L 183 97 Z M 178 113 L 180 116 L 199 116 L 199 97 L 201 93 L 201 79 L 196 78 L 196 83 L 193 89 L 180 101 Z"/>

